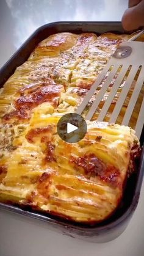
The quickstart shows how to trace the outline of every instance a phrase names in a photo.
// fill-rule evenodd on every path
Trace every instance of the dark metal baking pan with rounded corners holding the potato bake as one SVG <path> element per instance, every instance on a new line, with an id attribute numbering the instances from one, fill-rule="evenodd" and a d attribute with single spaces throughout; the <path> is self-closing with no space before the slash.
<path id="1" fill-rule="evenodd" d="M 40 27 L 25 43 L 21 48 L 13 55 L 13 57 L 4 65 L 1 69 L 0 85 L 12 75 L 15 68 L 23 64 L 23 62 L 29 57 L 29 54 L 35 48 L 38 42 L 56 32 L 95 32 L 103 33 L 108 31 L 123 32 L 120 23 L 96 23 L 96 22 L 63 22 L 63 23 L 51 23 L 43 27 Z M 141 137 L 141 143 L 143 143 L 143 137 Z M 142 154 L 143 155 L 143 154 Z M 87 238 L 87 240 L 104 242 L 112 240 L 113 238 L 120 235 L 128 224 L 128 220 L 132 216 L 137 202 L 139 200 L 140 186 L 142 185 L 142 168 L 143 158 L 137 174 L 133 174 L 128 180 L 128 184 L 125 191 L 123 205 L 109 220 L 97 224 L 96 226 L 87 226 L 74 224 L 73 222 L 63 221 L 62 219 L 50 216 L 50 214 L 34 213 L 28 208 L 21 209 L 20 207 L 4 205 L 1 203 L 1 207 L 9 210 L 13 210 L 22 214 L 33 216 L 34 218 L 43 219 L 51 223 L 52 227 L 62 230 L 63 233 L 72 235 L 74 237 Z M 59 228 L 57 227 L 59 226 Z"/>

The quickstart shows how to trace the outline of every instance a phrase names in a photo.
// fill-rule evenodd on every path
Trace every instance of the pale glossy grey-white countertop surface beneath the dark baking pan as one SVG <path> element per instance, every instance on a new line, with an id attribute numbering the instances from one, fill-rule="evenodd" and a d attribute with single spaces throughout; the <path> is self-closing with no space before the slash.
<path id="1" fill-rule="evenodd" d="M 119 21 L 126 0 L 0 0 L 0 67 L 37 27 L 52 21 Z M 105 244 L 74 240 L 46 223 L 0 212 L 1 256 L 143 256 L 144 185 L 125 232 Z"/>

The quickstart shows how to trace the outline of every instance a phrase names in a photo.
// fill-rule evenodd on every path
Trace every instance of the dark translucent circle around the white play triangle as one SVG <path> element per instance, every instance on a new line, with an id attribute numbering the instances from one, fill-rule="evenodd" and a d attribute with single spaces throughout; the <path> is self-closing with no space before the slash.
<path id="1" fill-rule="evenodd" d="M 77 127 L 75 131 L 67 133 L 67 124 Z M 63 115 L 57 123 L 57 133 L 65 142 L 75 143 L 81 141 L 87 133 L 87 123 L 81 115 L 70 113 Z"/>

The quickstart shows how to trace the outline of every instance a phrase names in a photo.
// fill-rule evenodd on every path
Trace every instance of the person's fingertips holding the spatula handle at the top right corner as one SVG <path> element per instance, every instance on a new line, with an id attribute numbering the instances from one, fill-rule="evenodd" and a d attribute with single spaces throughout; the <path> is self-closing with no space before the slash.
<path id="1" fill-rule="evenodd" d="M 129 0 L 129 8 L 124 12 L 121 22 L 127 31 L 144 26 L 144 0 Z"/>

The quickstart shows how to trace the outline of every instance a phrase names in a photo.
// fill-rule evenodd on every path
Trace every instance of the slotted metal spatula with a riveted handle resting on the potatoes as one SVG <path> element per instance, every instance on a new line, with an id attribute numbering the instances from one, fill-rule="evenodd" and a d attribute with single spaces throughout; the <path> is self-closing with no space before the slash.
<path id="1" fill-rule="evenodd" d="M 121 86 L 121 83 L 124 81 L 124 86 L 121 89 L 120 97 L 118 97 L 117 103 L 115 104 L 115 108 L 113 109 L 112 115 L 110 117 L 109 123 L 115 123 L 117 121 L 117 117 L 120 114 L 121 108 L 123 106 L 124 100 L 128 95 L 129 90 L 131 89 L 132 81 L 134 81 L 135 75 L 139 71 L 139 75 L 137 78 L 137 82 L 135 83 L 131 99 L 128 103 L 128 108 L 123 117 L 123 121 L 121 125 L 128 125 L 129 120 L 131 119 L 132 112 L 134 111 L 135 103 L 139 97 L 140 90 L 142 89 L 144 82 L 144 42 L 132 42 L 140 35 L 144 33 L 140 31 L 138 34 L 134 35 L 134 37 L 130 38 L 128 42 L 123 42 L 118 46 L 115 53 L 110 58 L 106 67 L 104 67 L 103 71 L 100 73 L 96 82 L 92 85 L 91 89 L 88 91 L 81 105 L 77 108 L 76 113 L 81 115 L 87 106 L 90 99 L 93 97 L 98 86 L 103 82 L 103 86 L 96 94 L 95 100 L 93 101 L 92 106 L 90 107 L 88 114 L 86 116 L 87 120 L 91 120 L 93 114 L 98 108 L 99 103 L 101 102 L 104 94 L 107 92 L 112 79 L 114 78 L 113 86 L 110 88 L 109 95 L 107 100 L 105 101 L 103 108 L 99 112 L 98 121 L 103 121 L 104 117 L 107 114 L 110 104 L 112 103 L 113 97 L 117 93 L 118 88 Z M 126 73 L 128 75 L 126 76 Z M 139 110 L 139 117 L 137 119 L 137 123 L 135 125 L 135 132 L 137 137 L 140 137 L 142 133 L 144 123 L 144 98 Z"/>

